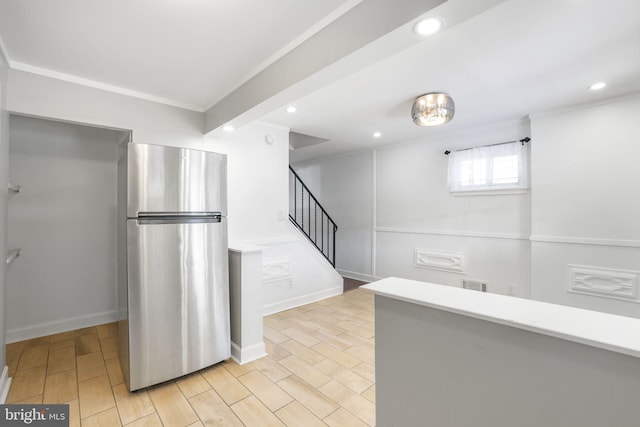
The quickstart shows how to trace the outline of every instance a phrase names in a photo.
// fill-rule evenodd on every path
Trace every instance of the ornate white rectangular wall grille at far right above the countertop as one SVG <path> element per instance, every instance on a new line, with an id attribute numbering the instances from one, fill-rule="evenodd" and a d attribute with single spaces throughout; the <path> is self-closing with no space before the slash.
<path id="1" fill-rule="evenodd" d="M 640 272 L 610 268 L 568 265 L 569 292 L 638 301 Z"/>

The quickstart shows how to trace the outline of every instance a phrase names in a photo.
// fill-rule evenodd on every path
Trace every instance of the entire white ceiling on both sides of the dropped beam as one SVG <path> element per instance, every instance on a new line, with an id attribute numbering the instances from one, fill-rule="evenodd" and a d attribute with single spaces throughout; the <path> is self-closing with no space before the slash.
<path id="1" fill-rule="evenodd" d="M 385 1 L 0 0 L 0 38 L 13 68 L 215 111 L 237 105 L 243 85 L 264 81 L 264 71 L 336 19 Z M 392 2 L 410 3 L 420 0 Z M 640 1 L 448 0 L 421 14 L 441 17 L 444 29 L 419 38 L 416 14 L 230 121 L 260 119 L 329 140 L 291 152 L 304 161 L 640 91 Z M 601 80 L 604 90 L 588 90 Z M 456 116 L 420 128 L 411 103 L 431 91 L 452 95 Z M 289 104 L 295 114 L 284 112 Z"/>

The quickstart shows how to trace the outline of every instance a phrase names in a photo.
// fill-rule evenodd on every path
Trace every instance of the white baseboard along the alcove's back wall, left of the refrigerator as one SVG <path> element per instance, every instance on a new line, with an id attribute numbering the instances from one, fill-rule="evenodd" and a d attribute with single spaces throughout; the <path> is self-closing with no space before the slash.
<path id="1" fill-rule="evenodd" d="M 105 311 L 103 313 L 90 314 L 87 316 L 72 317 L 55 322 L 41 323 L 38 325 L 26 326 L 24 328 L 8 329 L 6 341 L 8 343 L 29 340 L 32 338 L 44 337 L 58 334 L 60 332 L 73 331 L 75 329 L 87 328 L 90 326 L 111 323 L 117 320 L 116 311 Z"/>

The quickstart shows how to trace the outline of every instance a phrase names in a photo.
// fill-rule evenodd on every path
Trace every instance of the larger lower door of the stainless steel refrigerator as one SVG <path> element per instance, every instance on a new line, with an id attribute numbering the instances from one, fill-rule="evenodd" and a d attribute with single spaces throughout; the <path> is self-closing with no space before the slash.
<path id="1" fill-rule="evenodd" d="M 127 221 L 129 389 L 227 359 L 231 352 L 226 219 Z"/>

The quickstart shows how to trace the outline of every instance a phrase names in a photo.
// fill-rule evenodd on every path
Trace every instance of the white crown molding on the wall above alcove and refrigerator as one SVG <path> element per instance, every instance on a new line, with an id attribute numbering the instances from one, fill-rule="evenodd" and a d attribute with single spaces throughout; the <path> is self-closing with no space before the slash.
<path id="1" fill-rule="evenodd" d="M 181 108 L 183 110 L 195 111 L 197 113 L 203 113 L 204 109 L 200 106 L 188 104 L 185 102 L 176 101 L 161 96 L 152 95 L 137 90 L 127 89 L 116 85 L 110 85 L 102 83 L 96 80 L 85 79 L 83 77 L 74 76 L 73 74 L 61 73 L 59 71 L 53 71 L 48 68 L 37 67 L 35 65 L 25 64 L 23 62 L 8 61 L 9 67 L 12 70 L 23 71 L 25 73 L 36 74 L 43 77 L 48 77 L 55 80 L 61 80 L 68 83 L 74 83 L 81 86 L 90 87 L 93 89 L 104 90 L 106 92 L 112 92 L 119 95 L 130 96 L 132 98 L 138 98 L 145 101 L 151 101 L 158 104 L 164 104 L 171 107 Z"/>

